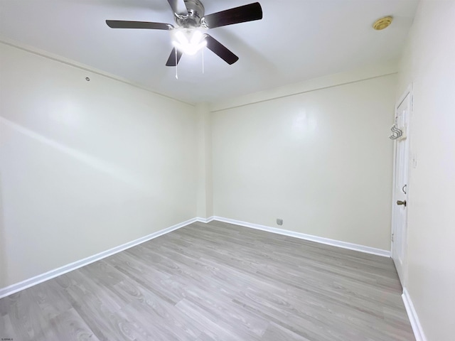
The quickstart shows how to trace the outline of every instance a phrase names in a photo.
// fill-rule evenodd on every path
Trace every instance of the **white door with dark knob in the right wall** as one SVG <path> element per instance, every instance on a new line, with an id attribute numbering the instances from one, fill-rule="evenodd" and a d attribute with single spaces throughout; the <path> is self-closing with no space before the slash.
<path id="1" fill-rule="evenodd" d="M 409 174 L 410 109 L 412 94 L 407 93 L 398 105 L 395 124 L 403 136 L 395 140 L 395 178 L 392 202 L 392 259 L 397 268 L 402 286 L 405 286 L 405 264 L 407 256 L 407 180 Z"/>

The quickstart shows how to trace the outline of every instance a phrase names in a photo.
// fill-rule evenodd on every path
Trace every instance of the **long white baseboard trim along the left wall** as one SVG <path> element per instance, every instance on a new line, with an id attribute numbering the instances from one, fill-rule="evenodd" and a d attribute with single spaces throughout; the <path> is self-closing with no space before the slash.
<path id="1" fill-rule="evenodd" d="M 4 298 L 13 293 L 17 293 L 18 291 L 24 290 L 26 288 L 30 288 L 31 286 L 36 286 L 36 284 L 42 283 L 44 281 L 48 281 L 51 278 L 55 278 L 57 276 L 66 274 L 75 269 L 79 269 L 82 266 L 91 264 L 95 261 L 99 261 L 100 259 L 106 258 L 107 256 L 112 256 L 112 254 L 117 254 L 118 252 L 129 249 L 130 247 L 135 247 L 138 244 L 147 242 L 151 239 L 162 236 L 163 234 L 175 231 L 176 229 L 185 227 L 186 225 L 192 224 L 193 222 L 198 222 L 199 219 L 200 218 L 193 218 L 190 220 L 186 220 L 186 222 L 181 222 L 179 224 L 173 225 L 166 229 L 161 229 L 160 231 L 154 232 L 145 237 L 135 239 L 132 242 L 127 242 L 125 244 L 119 245 L 118 247 L 113 247 L 112 249 L 102 251 L 99 254 L 94 254 L 93 256 L 89 256 L 85 259 L 80 259 L 79 261 L 75 261 L 73 263 L 61 266 L 58 269 L 53 269 L 48 272 L 45 272 L 44 274 L 34 276 L 32 278 L 28 278 L 25 281 L 21 281 L 19 283 L 12 284 L 11 286 L 6 286 L 5 288 L 0 288 L 0 298 Z"/>

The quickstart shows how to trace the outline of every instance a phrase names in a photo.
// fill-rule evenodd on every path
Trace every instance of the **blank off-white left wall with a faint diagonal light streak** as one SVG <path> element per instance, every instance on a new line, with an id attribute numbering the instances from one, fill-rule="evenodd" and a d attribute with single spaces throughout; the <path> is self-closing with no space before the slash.
<path id="1" fill-rule="evenodd" d="M 193 106 L 0 49 L 0 288 L 196 216 Z"/>

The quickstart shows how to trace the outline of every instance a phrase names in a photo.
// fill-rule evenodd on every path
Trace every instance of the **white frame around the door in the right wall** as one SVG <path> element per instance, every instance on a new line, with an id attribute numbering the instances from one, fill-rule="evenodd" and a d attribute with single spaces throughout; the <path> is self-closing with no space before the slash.
<path id="1" fill-rule="evenodd" d="M 398 111 L 398 108 L 400 107 L 400 105 L 402 104 L 403 101 L 405 101 L 406 97 L 407 96 L 410 96 L 410 108 L 409 108 L 409 115 L 408 115 L 408 124 L 407 124 L 407 143 L 408 143 L 408 155 L 407 155 L 407 162 L 408 162 L 408 168 L 407 168 L 407 186 L 406 186 L 406 190 L 407 190 L 407 201 L 409 201 L 409 197 L 410 197 L 410 171 L 411 171 L 411 151 L 412 151 L 412 147 L 411 147 L 411 139 L 410 139 L 410 132 L 411 132 L 411 126 L 412 126 L 412 112 L 413 112 L 413 109 L 414 109 L 414 94 L 412 92 L 412 89 L 413 89 L 413 85 L 412 83 L 410 85 L 407 86 L 405 92 L 403 92 L 403 94 L 400 96 L 400 98 L 398 99 L 398 101 L 396 102 L 395 104 L 395 113 L 394 113 L 394 123 L 395 123 L 395 120 L 397 119 L 397 111 Z M 396 198 L 395 198 L 395 182 L 396 182 L 396 171 L 397 171 L 397 141 L 394 141 L 393 142 L 393 175 L 392 175 L 392 217 L 391 217 L 391 224 L 390 224 L 390 256 L 391 258 L 393 259 L 393 242 L 392 242 L 392 236 L 393 234 L 395 233 L 395 210 L 396 210 Z M 408 205 L 409 206 L 409 205 Z M 408 208 L 408 207 L 407 207 Z M 405 269 L 403 271 L 403 274 L 402 274 L 402 278 L 399 277 L 400 279 L 400 283 L 402 285 L 402 288 L 405 288 L 407 286 L 407 235 L 408 235 L 408 232 L 407 232 L 407 229 L 408 229 L 408 209 L 405 210 L 405 215 L 406 215 L 406 227 L 405 227 L 405 235 L 403 236 L 403 241 L 402 241 L 402 248 L 403 248 L 403 254 L 404 254 L 404 259 L 403 259 L 403 269 Z"/>

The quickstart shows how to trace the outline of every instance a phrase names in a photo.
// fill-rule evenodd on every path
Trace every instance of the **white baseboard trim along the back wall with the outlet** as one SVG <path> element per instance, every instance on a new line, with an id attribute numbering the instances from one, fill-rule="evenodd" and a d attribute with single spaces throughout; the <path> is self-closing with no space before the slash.
<path id="1" fill-rule="evenodd" d="M 283 234 L 284 236 L 295 237 L 299 239 L 309 240 L 311 242 L 317 242 L 321 244 L 331 245 L 333 247 L 342 247 L 343 249 L 350 249 L 354 251 L 365 252 L 366 254 L 375 254 L 377 256 L 390 257 L 390 251 L 376 249 L 374 247 L 365 247 L 364 245 L 353 244 L 348 242 L 341 242 L 335 239 L 328 239 L 323 237 L 313 236 L 311 234 L 304 234 L 300 232 L 289 231 L 287 229 L 277 229 L 276 227 L 269 227 L 259 224 L 252 224 L 250 222 L 242 222 L 240 220 L 233 220 L 224 217 L 211 217 L 212 220 L 218 220 L 219 222 L 228 222 L 230 224 L 240 225 L 244 227 L 250 227 L 252 229 L 261 229 L 262 231 Z"/>

